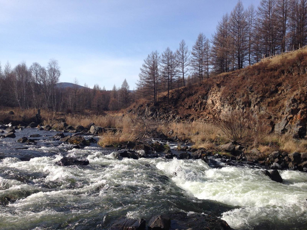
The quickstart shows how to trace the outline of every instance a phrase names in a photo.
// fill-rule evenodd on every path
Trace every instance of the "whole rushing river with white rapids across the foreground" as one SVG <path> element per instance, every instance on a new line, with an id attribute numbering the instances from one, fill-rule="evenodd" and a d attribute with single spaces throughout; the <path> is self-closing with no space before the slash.
<path id="1" fill-rule="evenodd" d="M 72 149 L 51 138 L 56 133 L 25 128 L 0 139 L 0 201 L 11 199 L 0 205 L 0 229 L 109 229 L 121 217 L 176 212 L 216 216 L 234 229 L 307 229 L 304 172 L 279 171 L 277 183 L 249 165 L 118 160 L 115 149 Z M 31 134 L 41 135 L 36 145 L 16 142 Z M 55 165 L 63 156 L 85 157 L 89 165 Z"/>

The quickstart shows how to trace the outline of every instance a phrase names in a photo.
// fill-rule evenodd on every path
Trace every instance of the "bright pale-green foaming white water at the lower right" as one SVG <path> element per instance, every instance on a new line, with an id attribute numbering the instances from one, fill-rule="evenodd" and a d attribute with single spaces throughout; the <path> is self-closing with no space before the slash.
<path id="1" fill-rule="evenodd" d="M 222 219 L 232 228 L 302 229 L 307 222 L 307 175 L 303 172 L 280 171 L 284 182 L 277 183 L 260 169 L 212 169 L 200 160 L 163 161 L 157 168 L 199 199 L 240 206 L 223 213 Z"/>

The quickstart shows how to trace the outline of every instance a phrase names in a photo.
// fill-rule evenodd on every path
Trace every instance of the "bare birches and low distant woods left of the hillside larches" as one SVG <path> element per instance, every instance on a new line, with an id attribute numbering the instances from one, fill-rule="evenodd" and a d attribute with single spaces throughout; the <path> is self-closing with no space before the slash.
<path id="1" fill-rule="evenodd" d="M 121 87 L 115 85 L 106 90 L 95 84 L 91 89 L 84 84 L 79 86 L 75 78 L 72 87 L 61 87 L 59 78 L 60 66 L 57 60 L 51 59 L 47 66 L 34 62 L 30 67 L 25 62 L 14 68 L 7 62 L 0 63 L 0 106 L 20 107 L 21 110 L 49 109 L 54 112 L 83 113 L 105 110 L 119 110 L 134 102 L 134 91 L 129 90 L 126 79 Z"/>

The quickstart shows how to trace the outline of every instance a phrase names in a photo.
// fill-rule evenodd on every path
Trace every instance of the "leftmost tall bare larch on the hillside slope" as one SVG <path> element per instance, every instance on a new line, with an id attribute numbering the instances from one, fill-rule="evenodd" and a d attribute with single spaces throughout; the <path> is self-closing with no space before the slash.
<path id="1" fill-rule="evenodd" d="M 137 83 L 138 92 L 144 98 L 148 98 L 153 105 L 157 104 L 160 78 L 160 56 L 157 51 L 153 51 L 144 59 Z"/>

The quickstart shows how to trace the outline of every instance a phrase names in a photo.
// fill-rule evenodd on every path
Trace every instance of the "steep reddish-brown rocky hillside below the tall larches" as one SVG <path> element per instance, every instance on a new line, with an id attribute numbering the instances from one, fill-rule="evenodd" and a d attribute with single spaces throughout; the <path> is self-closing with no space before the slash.
<path id="1" fill-rule="evenodd" d="M 134 105 L 163 120 L 212 122 L 233 109 L 249 111 L 272 132 L 306 135 L 307 49 L 274 57 L 200 84 L 172 90 L 155 107 Z"/>

